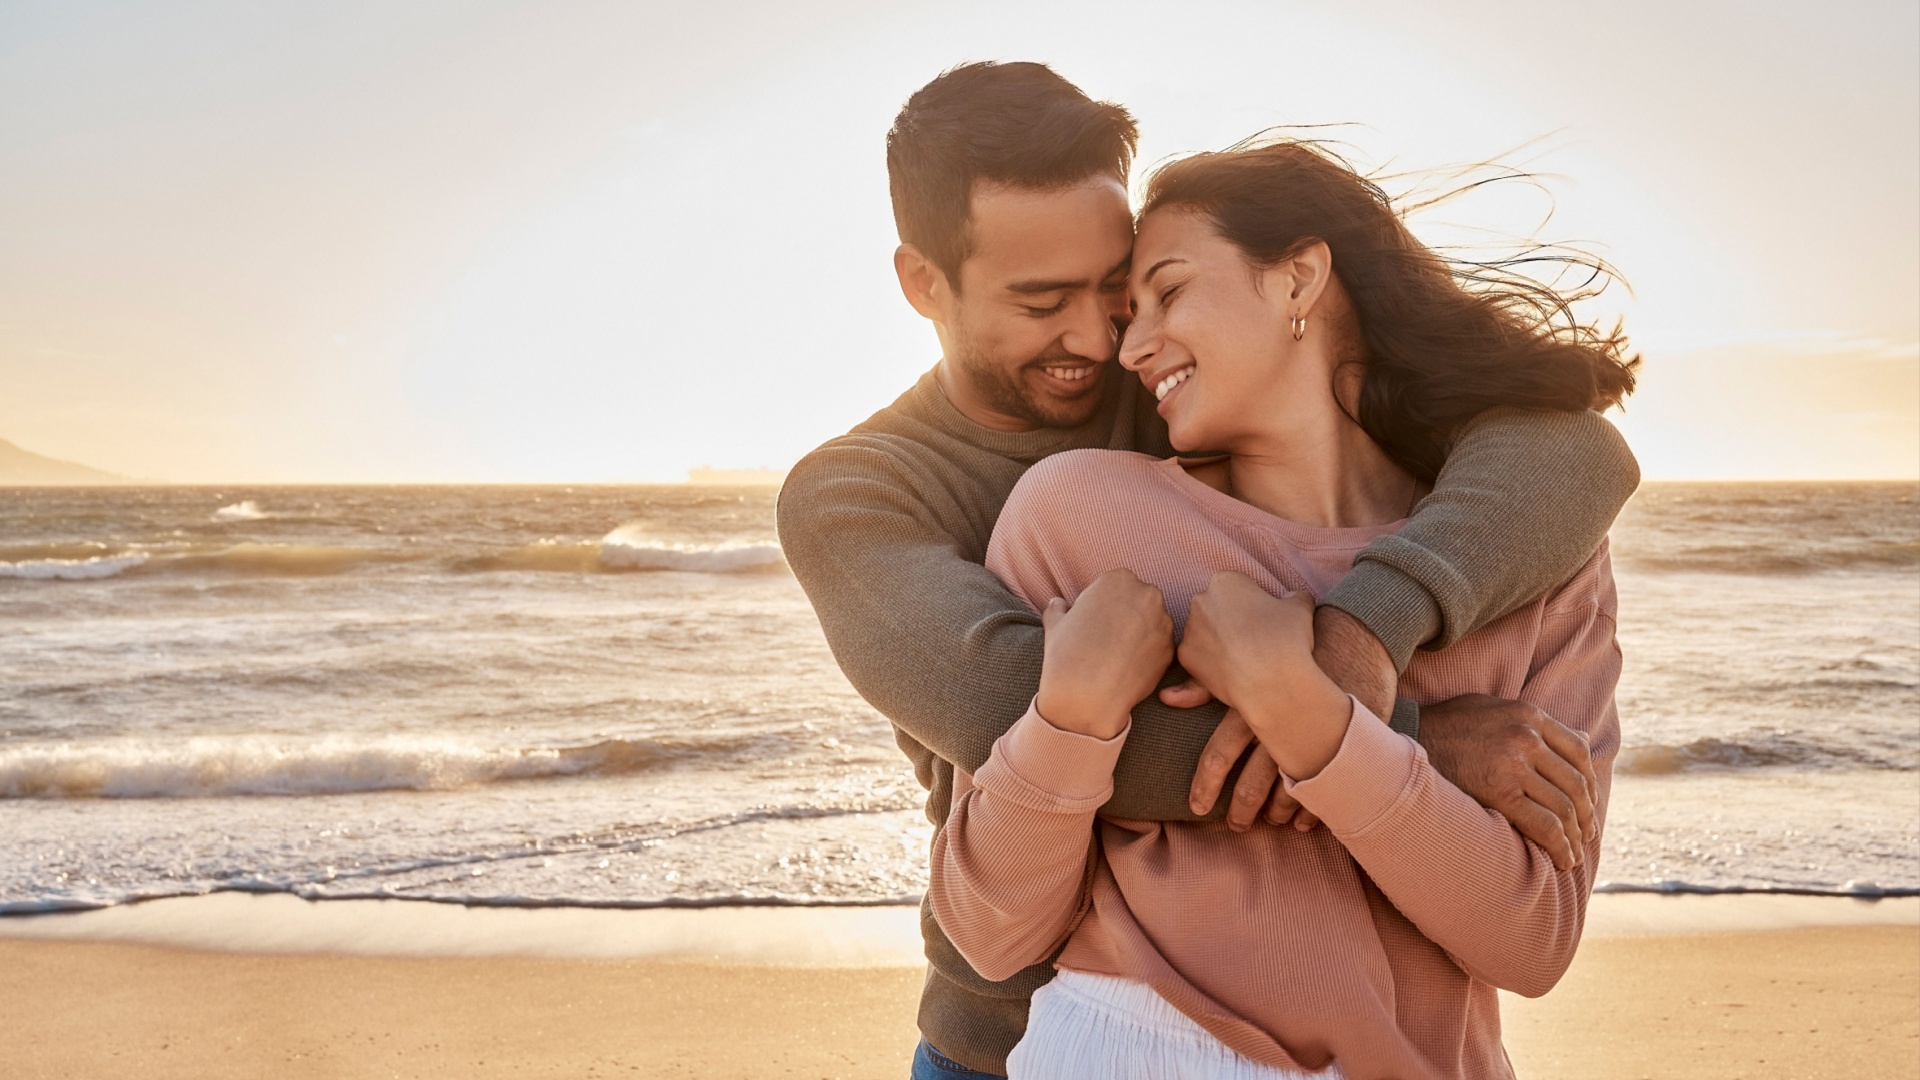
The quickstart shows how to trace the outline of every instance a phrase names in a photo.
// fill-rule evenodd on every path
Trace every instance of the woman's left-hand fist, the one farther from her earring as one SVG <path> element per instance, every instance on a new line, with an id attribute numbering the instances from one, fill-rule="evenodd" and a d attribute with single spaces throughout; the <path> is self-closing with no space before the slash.
<path id="1" fill-rule="evenodd" d="M 1100 575 L 1071 605 L 1054 598 L 1041 625 L 1046 659 L 1033 703 L 1060 730 L 1114 738 L 1173 663 L 1167 603 L 1127 569 Z"/>

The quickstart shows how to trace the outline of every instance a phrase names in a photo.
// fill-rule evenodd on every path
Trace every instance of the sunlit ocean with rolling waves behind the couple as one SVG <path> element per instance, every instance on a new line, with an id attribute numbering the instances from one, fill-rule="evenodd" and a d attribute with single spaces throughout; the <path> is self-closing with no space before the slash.
<path id="1" fill-rule="evenodd" d="M 1916 484 L 1647 484 L 1603 890 L 1920 892 Z M 772 488 L 0 490 L 0 913 L 908 903 Z"/>

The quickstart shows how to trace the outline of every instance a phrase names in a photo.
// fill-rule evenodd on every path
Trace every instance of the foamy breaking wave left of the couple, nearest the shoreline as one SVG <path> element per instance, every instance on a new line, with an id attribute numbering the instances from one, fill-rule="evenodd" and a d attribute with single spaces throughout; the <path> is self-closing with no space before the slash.
<path id="1" fill-rule="evenodd" d="M 0 748 L 0 799 L 156 799 L 434 792 L 503 780 L 620 776 L 728 757 L 741 738 L 486 748 L 453 738 L 204 736 Z"/>

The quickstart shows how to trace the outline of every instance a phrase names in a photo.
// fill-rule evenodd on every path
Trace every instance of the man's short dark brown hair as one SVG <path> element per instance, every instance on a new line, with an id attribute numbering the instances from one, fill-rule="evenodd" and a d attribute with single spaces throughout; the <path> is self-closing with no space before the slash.
<path id="1" fill-rule="evenodd" d="M 972 254 L 973 183 L 1058 190 L 1127 183 L 1139 129 L 1044 63 L 966 63 L 906 98 L 887 131 L 887 184 L 900 242 L 960 286 Z"/>

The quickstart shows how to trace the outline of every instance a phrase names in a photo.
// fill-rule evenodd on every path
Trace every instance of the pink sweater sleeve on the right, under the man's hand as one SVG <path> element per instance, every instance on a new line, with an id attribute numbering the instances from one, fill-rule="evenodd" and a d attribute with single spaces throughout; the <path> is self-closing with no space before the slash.
<path id="1" fill-rule="evenodd" d="M 1584 588 L 1576 588 L 1580 582 Z M 1613 611 L 1607 559 L 1596 555 L 1548 605 L 1532 675 L 1521 690 L 1523 701 L 1588 736 L 1599 776 L 1596 821 L 1605 819 L 1620 744 Z M 1528 997 L 1551 990 L 1580 944 L 1599 836 L 1578 867 L 1555 871 L 1548 853 L 1507 819 L 1434 773 L 1419 744 L 1384 724 L 1359 723 L 1361 715 L 1356 703 L 1334 759 L 1311 780 L 1288 782 L 1288 790 L 1463 970 Z"/>

